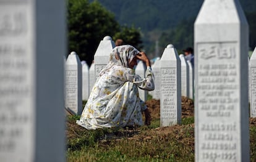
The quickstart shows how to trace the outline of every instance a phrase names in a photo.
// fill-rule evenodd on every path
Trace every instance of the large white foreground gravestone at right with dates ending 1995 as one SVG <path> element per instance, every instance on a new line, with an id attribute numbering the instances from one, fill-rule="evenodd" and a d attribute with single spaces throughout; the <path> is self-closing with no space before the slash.
<path id="1" fill-rule="evenodd" d="M 195 161 L 250 161 L 248 24 L 238 0 L 205 0 L 195 20 Z"/>

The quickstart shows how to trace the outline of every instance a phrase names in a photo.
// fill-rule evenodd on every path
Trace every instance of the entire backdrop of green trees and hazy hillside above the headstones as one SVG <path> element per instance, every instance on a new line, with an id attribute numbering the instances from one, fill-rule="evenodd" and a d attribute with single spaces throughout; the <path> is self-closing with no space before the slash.
<path id="1" fill-rule="evenodd" d="M 167 44 L 178 51 L 194 46 L 194 22 L 203 0 L 67 0 L 69 53 L 79 54 L 88 65 L 100 40 L 111 36 L 114 41 L 144 50 L 151 58 L 161 56 Z M 241 0 L 249 28 L 250 50 L 256 46 L 256 2 Z M 159 51 L 155 43 L 159 42 Z M 158 53 L 158 54 L 156 54 Z"/>

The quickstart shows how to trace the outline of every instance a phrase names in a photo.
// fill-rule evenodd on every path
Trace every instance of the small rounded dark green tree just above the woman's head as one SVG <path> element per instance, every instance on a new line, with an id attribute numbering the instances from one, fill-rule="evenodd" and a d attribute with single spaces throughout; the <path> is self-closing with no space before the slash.
<path id="1" fill-rule="evenodd" d="M 122 39 L 124 44 L 130 44 L 137 49 L 142 48 L 140 29 L 136 29 L 134 26 L 121 26 L 121 31 L 114 34 L 113 39 Z"/>

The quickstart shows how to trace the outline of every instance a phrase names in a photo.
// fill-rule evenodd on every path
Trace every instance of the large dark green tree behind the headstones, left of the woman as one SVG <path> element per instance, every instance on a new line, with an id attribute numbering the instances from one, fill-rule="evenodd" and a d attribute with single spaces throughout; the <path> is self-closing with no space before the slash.
<path id="1" fill-rule="evenodd" d="M 69 52 L 75 51 L 89 65 L 100 40 L 119 31 L 114 15 L 97 1 L 68 1 Z"/>

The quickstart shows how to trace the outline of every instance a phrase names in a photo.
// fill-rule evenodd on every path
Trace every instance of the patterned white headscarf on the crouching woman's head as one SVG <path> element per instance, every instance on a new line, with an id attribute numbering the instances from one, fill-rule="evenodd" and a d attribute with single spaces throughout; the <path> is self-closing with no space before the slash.
<path id="1" fill-rule="evenodd" d="M 109 55 L 109 62 L 103 70 L 100 71 L 100 76 L 109 70 L 114 65 L 122 65 L 128 68 L 129 63 L 134 59 L 135 55 L 139 54 L 139 51 L 130 45 L 123 45 L 114 47 L 113 51 Z"/>

